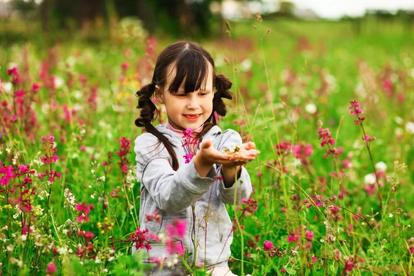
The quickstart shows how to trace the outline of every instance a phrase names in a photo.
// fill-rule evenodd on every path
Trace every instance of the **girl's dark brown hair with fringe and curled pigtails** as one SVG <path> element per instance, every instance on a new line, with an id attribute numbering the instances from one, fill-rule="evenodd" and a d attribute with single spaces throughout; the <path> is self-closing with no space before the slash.
<path id="1" fill-rule="evenodd" d="M 217 115 L 226 116 L 227 109 L 222 98 L 233 99 L 233 95 L 229 91 L 232 86 L 231 81 L 224 75 L 216 75 L 213 58 L 199 44 L 190 41 L 179 41 L 167 46 L 159 54 L 151 83 L 143 86 L 137 92 L 137 97 L 139 97 L 137 108 L 141 109 L 141 113 L 139 118 L 135 120 L 135 125 L 144 127 L 146 132 L 150 132 L 159 139 L 160 144 L 164 144 L 172 157 L 172 169 L 177 170 L 179 163 L 170 141 L 151 124 L 159 114 L 159 110 L 152 102 L 152 97 L 155 96 L 155 86 L 164 88 L 168 79 L 166 71 L 172 63 L 175 63 L 177 74 L 168 88 L 170 93 L 177 93 L 184 79 L 184 92 L 186 94 L 199 90 L 203 81 L 208 77 L 208 63 L 213 66 L 213 88 L 216 90 L 213 97 L 213 112 L 204 122 L 203 130 L 197 135 L 198 142 L 201 142 L 204 134 L 217 124 L 214 112 L 217 112 Z"/>

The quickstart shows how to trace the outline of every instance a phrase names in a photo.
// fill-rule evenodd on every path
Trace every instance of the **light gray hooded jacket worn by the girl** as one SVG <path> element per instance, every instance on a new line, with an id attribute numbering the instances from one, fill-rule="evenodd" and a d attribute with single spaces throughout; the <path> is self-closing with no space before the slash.
<path id="1" fill-rule="evenodd" d="M 250 176 L 242 167 L 236 184 L 225 188 L 221 177 L 220 166 L 213 166 L 206 177 L 200 177 L 195 170 L 194 160 L 185 164 L 186 154 L 182 144 L 184 141 L 174 131 L 165 125 L 156 126 L 162 135 L 168 138 L 179 160 L 179 169 L 172 170 L 172 159 L 163 144 L 150 133 L 143 133 L 135 139 L 137 155 L 137 179 L 141 183 L 141 201 L 139 223 L 141 228 L 148 229 L 152 234 L 167 233 L 166 225 L 174 219 L 186 220 L 187 228 L 184 248 L 193 253 L 193 239 L 197 243 L 197 263 L 205 262 L 206 266 L 226 264 L 230 257 L 230 244 L 233 241 L 232 221 L 224 204 L 233 204 L 237 186 L 236 204 L 242 199 L 248 199 L 252 193 Z M 210 139 L 214 147 L 223 152 L 224 148 L 233 149 L 242 144 L 242 138 L 235 130 L 221 132 L 219 126 L 213 126 L 202 138 Z M 201 143 L 202 143 L 201 141 Z M 195 214 L 191 204 L 195 203 Z M 162 216 L 161 223 L 147 221 L 146 214 L 153 215 L 155 211 Z M 206 224 L 206 221 L 208 224 Z M 195 230 L 195 235 L 193 233 Z M 135 249 L 135 247 L 133 247 Z M 206 250 L 207 248 L 207 250 Z M 152 244 L 151 257 L 161 258 L 166 254 L 166 246 Z M 165 270 L 165 268 L 164 268 Z M 177 270 L 174 270 L 174 275 Z M 152 274 L 153 275 L 153 274 Z M 158 275 L 172 275 L 167 271 Z"/>

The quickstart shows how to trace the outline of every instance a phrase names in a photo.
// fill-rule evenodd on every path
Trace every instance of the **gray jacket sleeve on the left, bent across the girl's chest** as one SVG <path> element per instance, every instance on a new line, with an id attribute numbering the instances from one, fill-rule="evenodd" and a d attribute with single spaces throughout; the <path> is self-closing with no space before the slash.
<path id="1" fill-rule="evenodd" d="M 194 160 L 180 166 L 177 171 L 172 170 L 170 156 L 163 144 L 158 148 L 148 147 L 148 144 L 151 145 L 149 140 L 154 140 L 149 135 L 140 135 L 135 139 L 137 179 L 160 210 L 170 214 L 180 213 L 208 191 L 217 172 L 212 167 L 206 177 L 200 177 Z"/>

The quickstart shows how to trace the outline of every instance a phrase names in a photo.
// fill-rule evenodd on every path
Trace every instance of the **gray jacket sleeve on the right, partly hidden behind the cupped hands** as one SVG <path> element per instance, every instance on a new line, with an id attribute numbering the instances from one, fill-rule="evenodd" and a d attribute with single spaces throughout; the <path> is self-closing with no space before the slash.
<path id="1" fill-rule="evenodd" d="M 228 129 L 225 130 L 224 133 L 221 135 L 221 139 L 219 145 L 217 146 L 217 150 L 221 152 L 223 152 L 224 148 L 233 150 L 236 144 L 242 144 L 242 137 L 240 137 L 239 132 L 232 129 Z M 248 172 L 246 168 L 244 168 L 244 166 L 242 166 L 241 170 L 242 171 L 240 173 L 240 177 L 237 179 L 236 183 L 233 184 L 233 186 L 231 186 L 230 188 L 226 188 L 224 186 L 224 181 L 220 180 L 219 188 L 217 190 L 217 196 L 225 204 L 234 204 L 235 193 L 237 193 L 237 205 L 242 203 L 242 199 L 248 199 L 252 193 L 253 188 L 250 182 L 250 175 L 248 175 Z M 219 167 L 219 175 L 221 175 L 221 166 Z"/>

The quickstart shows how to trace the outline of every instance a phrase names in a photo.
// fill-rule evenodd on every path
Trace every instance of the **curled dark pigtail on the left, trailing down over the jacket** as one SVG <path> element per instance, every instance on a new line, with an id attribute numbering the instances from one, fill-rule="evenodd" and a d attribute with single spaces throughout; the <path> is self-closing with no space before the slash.
<path id="1" fill-rule="evenodd" d="M 138 99 L 138 109 L 141 109 L 140 117 L 135 120 L 135 125 L 139 127 L 144 127 L 146 132 L 151 133 L 155 137 L 158 138 L 158 146 L 154 149 L 156 150 L 161 143 L 164 144 L 170 157 L 172 158 L 171 167 L 173 170 L 178 170 L 179 163 L 177 159 L 177 155 L 175 155 L 174 149 L 170 141 L 168 141 L 167 137 L 162 135 L 155 126 L 152 126 L 151 122 L 157 118 L 159 111 L 157 110 L 157 106 L 152 102 L 152 97 L 155 92 L 155 81 L 152 81 L 150 84 L 143 86 L 141 90 L 137 92 Z"/>

